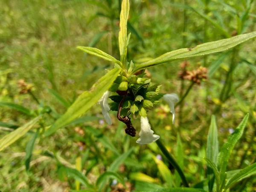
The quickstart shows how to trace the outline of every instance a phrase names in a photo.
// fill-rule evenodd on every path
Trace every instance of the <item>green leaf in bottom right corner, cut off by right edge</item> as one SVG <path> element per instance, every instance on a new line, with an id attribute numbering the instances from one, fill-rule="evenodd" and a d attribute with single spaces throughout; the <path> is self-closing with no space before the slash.
<path id="1" fill-rule="evenodd" d="M 239 180 L 242 180 L 246 177 L 250 177 L 251 175 L 256 175 L 256 163 L 253 163 L 252 165 L 249 165 L 242 169 L 240 172 L 238 172 L 236 175 L 234 175 L 227 185 L 225 186 L 225 189 L 227 190 L 232 186 L 234 183 L 238 182 Z"/>

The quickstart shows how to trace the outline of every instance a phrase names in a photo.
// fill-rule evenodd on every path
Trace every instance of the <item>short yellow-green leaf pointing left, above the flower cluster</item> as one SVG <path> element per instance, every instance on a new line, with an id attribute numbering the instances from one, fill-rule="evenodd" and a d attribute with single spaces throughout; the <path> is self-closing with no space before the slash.
<path id="1" fill-rule="evenodd" d="M 102 50 L 96 49 L 94 47 L 82 47 L 82 46 L 78 46 L 76 48 L 81 49 L 82 51 L 87 52 L 91 55 L 95 55 L 107 61 L 112 61 L 116 64 L 121 65 L 120 61 L 118 61 L 116 58 L 113 58 L 111 55 L 108 55 L 107 53 L 103 52 Z"/>

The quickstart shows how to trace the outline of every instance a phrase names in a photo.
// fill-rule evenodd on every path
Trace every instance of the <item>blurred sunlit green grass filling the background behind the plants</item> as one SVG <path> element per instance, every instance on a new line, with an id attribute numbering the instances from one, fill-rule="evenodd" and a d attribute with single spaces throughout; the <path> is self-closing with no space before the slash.
<path id="1" fill-rule="evenodd" d="M 201 9 L 200 2 L 200 0 L 197 3 L 187 0 L 189 6 L 198 10 Z M 243 1 L 226 0 L 225 3 L 230 6 L 223 6 L 221 2 L 221 0 L 212 1 L 208 5 L 207 15 L 221 23 L 223 29 L 232 35 L 237 29 L 236 15 L 232 11 L 237 10 L 241 16 L 244 11 Z M 173 3 L 179 3 L 179 1 L 174 0 Z M 107 3 L 104 5 L 107 6 Z M 224 9 L 219 9 L 220 5 Z M 137 63 L 164 52 L 182 48 L 184 36 L 186 47 L 193 47 L 203 43 L 204 40 L 216 41 L 225 38 L 209 22 L 205 30 L 204 18 L 191 10 L 186 10 L 188 18 L 186 31 L 183 32 L 183 9 L 177 8 L 167 0 L 131 1 L 130 9 L 129 22 L 138 30 L 145 43 L 143 45 L 136 35 L 131 35 L 128 60 L 132 59 Z M 108 32 L 102 36 L 96 47 L 118 58 L 119 52 L 114 41 L 118 33 L 118 20 L 113 19 L 119 14 L 118 1 L 113 1 L 113 10 L 107 12 L 93 3 L 82 0 L 1 1 L 0 101 L 15 102 L 34 111 L 40 111 L 42 106 L 47 105 L 55 109 L 56 117 L 58 114 L 63 114 L 66 107 L 49 93 L 49 88 L 72 102 L 84 90 L 88 90 L 96 79 L 105 74 L 105 68 L 113 67 L 100 58 L 90 55 L 85 58 L 84 53 L 76 47 L 88 46 L 95 34 L 106 30 Z M 203 10 L 200 11 L 203 12 Z M 96 17 L 91 20 L 91 16 L 97 12 L 110 14 L 112 20 L 107 17 Z M 255 7 L 252 7 L 250 12 L 255 12 Z M 244 33 L 256 30 L 255 20 L 253 15 L 248 17 Z M 149 112 L 149 119 L 152 119 L 152 124 L 156 125 L 154 128 L 157 134 L 174 155 L 177 134 L 180 134 L 185 157 L 184 171 L 189 183 L 197 183 L 204 178 L 206 163 L 201 158 L 205 157 L 209 119 L 213 112 L 217 117 L 220 146 L 223 145 L 232 128 L 236 128 L 243 116 L 250 113 L 247 129 L 240 143 L 233 150 L 228 170 L 241 169 L 255 162 L 256 89 L 254 82 L 256 76 L 245 62 L 241 62 L 246 59 L 255 66 L 255 39 L 242 44 L 236 51 L 234 58 L 231 53 L 221 62 L 220 67 L 211 78 L 207 79 L 207 82 L 202 82 L 201 85 L 195 84 L 192 87 L 184 102 L 182 122 L 176 121 L 175 125 L 171 124 L 171 115 L 164 110 L 167 106 L 164 103 L 159 105 L 158 112 Z M 221 54 L 208 56 L 205 67 L 210 67 L 220 56 Z M 236 68 L 229 77 L 232 87 L 227 95 L 228 99 L 224 101 L 219 98 L 226 74 L 230 69 L 230 60 Z M 202 57 L 190 59 L 189 63 L 189 70 L 205 64 Z M 180 93 L 181 81 L 177 76 L 180 71 L 179 64 L 180 62 L 173 62 L 151 68 L 148 70 L 148 76 L 151 76 L 155 83 L 163 85 L 162 92 Z M 40 105 L 29 94 L 19 94 L 20 89 L 17 86 L 19 79 L 34 85 L 32 93 L 39 99 Z M 184 81 L 185 89 L 189 85 L 189 81 Z M 237 85 L 239 87 L 234 88 Z M 225 86 L 229 87 L 230 84 Z M 221 101 L 224 103 L 221 104 Z M 221 108 L 218 107 L 220 104 Z M 216 107 L 219 109 L 215 110 Z M 179 119 L 179 110 L 177 108 L 176 120 Z M 116 154 L 102 142 L 99 134 L 88 131 L 91 129 L 84 128 L 84 125 L 103 133 L 113 143 L 119 154 L 135 147 L 134 153 L 119 167 L 119 173 L 127 178 L 128 182 L 133 183 L 138 191 L 145 190 L 145 186 L 150 184 L 141 181 L 145 177 L 132 178 L 131 173 L 134 172 L 142 172 L 154 178 L 153 183 L 167 186 L 152 159 L 152 156 L 160 154 L 156 144 L 137 145 L 136 139 L 125 135 L 124 126 L 114 118 L 115 113 L 111 114 L 113 117 L 111 126 L 107 126 L 106 123 L 101 124 L 99 119 L 96 119 L 76 125 L 84 130 L 84 135 L 76 133 L 75 126 L 68 126 L 52 137 L 39 138 L 35 144 L 29 172 L 25 170 L 25 148 L 31 133 L 0 152 L 0 190 L 64 191 L 69 189 L 69 182 L 74 187 L 75 182 L 72 179 L 65 177 L 60 181 L 58 164 L 54 158 L 43 155 L 45 151 L 51 151 L 52 154 L 61 157 L 66 164 L 74 166 L 76 158 L 85 158 L 84 154 L 89 149 L 90 152 L 82 170 L 87 170 L 86 176 L 90 182 L 95 181 L 116 159 Z M 102 118 L 99 106 L 93 107 L 86 115 Z M 0 108 L 1 122 L 23 125 L 29 119 L 29 116 L 10 108 Z M 53 119 L 47 117 L 47 120 L 42 123 L 47 126 L 52 122 Z M 139 120 L 134 120 L 134 125 L 139 129 Z M 1 137 L 8 132 L 0 129 Z M 164 158 L 163 161 L 168 165 Z M 125 169 L 122 169 L 124 167 Z M 253 188 L 256 184 L 255 178 L 250 177 L 247 183 L 243 182 L 241 182 L 241 186 L 244 185 L 243 189 L 234 186 L 233 190 L 246 192 L 255 190 L 255 187 Z"/>

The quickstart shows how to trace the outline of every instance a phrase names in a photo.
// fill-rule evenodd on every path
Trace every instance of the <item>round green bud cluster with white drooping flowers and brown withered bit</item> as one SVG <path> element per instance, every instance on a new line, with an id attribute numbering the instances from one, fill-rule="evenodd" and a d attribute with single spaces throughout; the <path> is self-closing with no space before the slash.
<path id="1" fill-rule="evenodd" d="M 131 114 L 135 117 L 140 116 L 140 138 L 136 142 L 148 144 L 158 140 L 160 136 L 154 134 L 154 131 L 151 130 L 147 117 L 148 111 L 152 110 L 154 105 L 160 102 L 160 99 L 163 99 L 169 104 L 170 112 L 173 114 L 172 122 L 174 122 L 175 102 L 179 100 L 175 93 L 159 93 L 160 87 L 161 85 L 159 84 L 152 84 L 151 79 L 145 77 L 144 71 L 140 71 L 139 74 L 120 74 L 111 88 L 99 100 L 106 122 L 109 125 L 112 124 L 108 111 L 117 111 L 117 119 L 127 125 L 125 133 L 135 137 L 136 130 L 129 116 Z M 113 94 L 112 96 L 110 96 L 111 93 Z M 112 102 L 108 103 L 108 98 Z"/>

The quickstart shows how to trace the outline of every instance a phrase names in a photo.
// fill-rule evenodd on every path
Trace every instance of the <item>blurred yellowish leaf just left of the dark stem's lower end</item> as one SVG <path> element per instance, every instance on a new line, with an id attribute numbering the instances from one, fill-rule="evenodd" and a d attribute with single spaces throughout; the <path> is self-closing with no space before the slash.
<path id="1" fill-rule="evenodd" d="M 154 161 L 157 164 L 157 168 L 162 175 L 163 180 L 165 180 L 165 182 L 167 183 L 167 186 L 172 187 L 173 178 L 169 168 L 163 163 L 162 160 L 159 160 L 156 157 L 154 157 Z"/>

